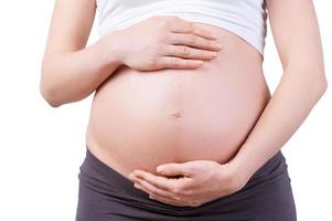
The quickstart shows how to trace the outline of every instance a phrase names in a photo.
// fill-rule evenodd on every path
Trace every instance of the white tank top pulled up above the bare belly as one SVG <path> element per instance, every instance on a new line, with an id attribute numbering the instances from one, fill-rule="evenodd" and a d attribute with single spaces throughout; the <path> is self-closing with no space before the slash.
<path id="1" fill-rule="evenodd" d="M 226 29 L 264 54 L 265 0 L 96 0 L 99 38 L 153 15 L 176 15 Z"/>

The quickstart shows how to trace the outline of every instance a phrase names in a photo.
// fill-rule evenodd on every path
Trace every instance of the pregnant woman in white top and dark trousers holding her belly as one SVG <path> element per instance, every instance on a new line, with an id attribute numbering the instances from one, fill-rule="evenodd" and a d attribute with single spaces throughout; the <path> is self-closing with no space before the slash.
<path id="1" fill-rule="evenodd" d="M 326 90 L 312 1 L 57 0 L 40 88 L 95 92 L 76 221 L 297 220 L 280 149 Z"/>

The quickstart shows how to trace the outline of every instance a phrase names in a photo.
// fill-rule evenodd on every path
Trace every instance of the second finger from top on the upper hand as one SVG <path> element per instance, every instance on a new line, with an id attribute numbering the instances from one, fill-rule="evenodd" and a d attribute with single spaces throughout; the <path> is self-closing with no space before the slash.
<path id="1" fill-rule="evenodd" d="M 219 51 L 223 45 L 217 41 L 206 40 L 204 38 L 194 35 L 194 34 L 184 34 L 184 33 L 170 33 L 169 43 L 171 44 L 182 44 L 194 46 L 199 49 L 206 49 L 212 51 Z"/>

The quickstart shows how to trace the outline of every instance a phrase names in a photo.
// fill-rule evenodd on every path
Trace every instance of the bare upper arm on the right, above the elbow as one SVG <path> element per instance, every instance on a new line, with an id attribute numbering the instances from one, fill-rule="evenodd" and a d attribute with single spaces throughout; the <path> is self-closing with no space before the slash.
<path id="1" fill-rule="evenodd" d="M 266 0 L 271 33 L 283 69 L 323 74 L 319 24 L 311 0 Z"/>

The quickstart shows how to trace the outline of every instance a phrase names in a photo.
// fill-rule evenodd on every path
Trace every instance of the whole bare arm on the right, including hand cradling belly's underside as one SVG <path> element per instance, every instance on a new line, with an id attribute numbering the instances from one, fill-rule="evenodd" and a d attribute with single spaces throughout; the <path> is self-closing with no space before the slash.
<path id="1" fill-rule="evenodd" d="M 226 165 L 165 164 L 159 175 L 136 170 L 135 186 L 174 206 L 201 206 L 243 187 L 296 133 L 328 88 L 314 6 L 310 0 L 267 0 L 274 39 L 283 67 L 281 81 L 238 152 Z M 238 175 L 239 183 L 229 177 Z M 164 176 L 182 179 L 165 179 Z M 233 186 L 233 187 L 232 187 Z"/>

